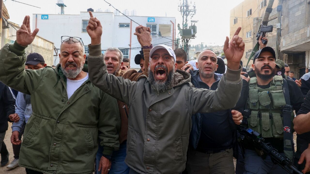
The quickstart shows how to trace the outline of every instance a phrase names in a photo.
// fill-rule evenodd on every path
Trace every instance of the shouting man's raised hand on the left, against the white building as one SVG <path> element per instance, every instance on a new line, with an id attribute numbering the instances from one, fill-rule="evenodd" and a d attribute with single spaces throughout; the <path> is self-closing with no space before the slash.
<path id="1" fill-rule="evenodd" d="M 94 18 L 91 11 L 89 11 L 91 16 L 86 27 L 88 35 L 91 37 L 91 45 L 97 45 L 101 43 L 102 26 L 97 18 Z"/>

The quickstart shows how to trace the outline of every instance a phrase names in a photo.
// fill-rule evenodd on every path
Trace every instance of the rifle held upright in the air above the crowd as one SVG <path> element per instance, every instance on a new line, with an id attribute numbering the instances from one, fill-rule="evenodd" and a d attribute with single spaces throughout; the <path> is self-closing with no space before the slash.
<path id="1" fill-rule="evenodd" d="M 246 64 L 246 67 L 248 66 L 251 58 L 254 56 L 256 51 L 259 50 L 259 42 L 258 42 L 259 38 L 261 36 L 262 36 L 262 38 L 265 37 L 266 33 L 272 32 L 272 30 L 273 30 L 273 26 L 272 25 L 267 26 L 268 25 L 268 20 L 269 20 L 269 15 L 272 12 L 273 2 L 274 2 L 274 0 L 269 0 L 269 2 L 268 2 L 268 5 L 266 7 L 266 11 L 265 11 L 265 14 L 264 14 L 264 17 L 263 17 L 262 24 L 260 24 L 258 32 L 256 33 L 257 43 L 256 43 L 255 47 L 252 50 L 252 53 L 251 53 L 251 55 L 249 57 L 248 63 Z M 263 42 L 264 45 L 266 45 L 268 41 L 262 39 L 262 42 Z"/>

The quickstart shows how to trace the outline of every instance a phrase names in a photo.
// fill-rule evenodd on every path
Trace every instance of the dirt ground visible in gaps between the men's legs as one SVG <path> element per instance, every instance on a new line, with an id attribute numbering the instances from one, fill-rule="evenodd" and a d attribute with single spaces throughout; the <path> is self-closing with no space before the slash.
<path id="1" fill-rule="evenodd" d="M 10 157 L 9 157 L 10 161 L 8 164 L 10 164 L 14 159 L 13 148 L 12 148 L 12 144 L 10 141 L 11 132 L 12 132 L 11 125 L 12 124 L 9 123 L 9 128 L 4 138 L 4 143 L 7 145 L 7 150 L 10 153 Z M 295 151 L 296 151 L 296 133 L 294 133 L 294 144 L 295 144 Z M 234 165 L 236 166 L 236 159 L 234 159 Z M 0 167 L 0 174 L 26 174 L 26 171 L 24 167 L 18 166 L 14 169 L 8 170 L 7 166 L 4 166 L 4 167 Z"/>

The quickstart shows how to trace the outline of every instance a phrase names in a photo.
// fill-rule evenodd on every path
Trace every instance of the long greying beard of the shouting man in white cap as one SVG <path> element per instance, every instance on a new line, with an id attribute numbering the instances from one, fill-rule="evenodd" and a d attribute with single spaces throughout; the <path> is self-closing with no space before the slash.
<path id="1" fill-rule="evenodd" d="M 165 66 L 157 65 L 155 69 L 157 69 L 158 67 L 165 68 L 167 72 L 167 68 Z M 173 67 L 173 69 L 167 74 L 166 81 L 159 81 L 159 80 L 155 80 L 153 72 L 151 71 L 150 67 L 148 67 L 148 82 L 150 83 L 151 88 L 157 91 L 157 93 L 163 93 L 166 90 L 168 90 L 169 85 L 172 83 L 172 80 L 174 78 L 174 72 L 175 72 L 175 67 Z"/>

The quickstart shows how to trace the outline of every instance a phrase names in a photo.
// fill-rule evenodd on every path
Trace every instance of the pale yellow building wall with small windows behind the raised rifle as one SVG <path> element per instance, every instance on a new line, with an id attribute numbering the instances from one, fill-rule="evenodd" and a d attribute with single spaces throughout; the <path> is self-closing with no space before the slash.
<path id="1" fill-rule="evenodd" d="M 260 3 L 262 0 L 244 0 L 239 5 L 234 7 L 230 11 L 230 40 L 233 37 L 233 34 L 237 30 L 238 27 L 242 27 L 239 36 L 243 38 L 243 41 L 245 42 L 245 51 L 242 57 L 243 66 L 246 66 L 246 63 L 248 59 L 246 59 L 246 52 L 249 50 L 252 50 L 255 46 L 253 44 L 253 39 L 255 39 L 256 42 L 256 33 L 253 33 L 253 18 L 256 18 L 258 16 L 262 17 L 265 13 L 266 7 L 263 7 L 260 9 Z M 268 5 L 269 0 L 267 0 Z M 274 0 L 272 8 L 277 7 L 278 0 Z M 247 11 L 252 8 L 252 15 L 247 17 Z M 237 24 L 233 24 L 233 21 L 235 17 L 238 17 Z M 260 24 L 258 24 L 259 26 Z M 246 38 L 246 32 L 249 32 L 252 30 L 252 37 Z M 257 29 L 256 29 L 257 30 Z M 274 30 L 275 32 L 275 30 Z M 250 61 L 249 65 L 252 63 Z"/>

